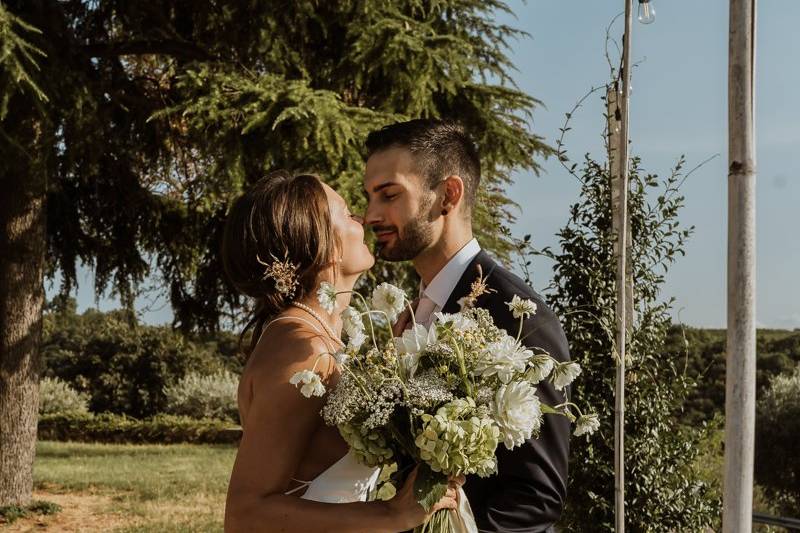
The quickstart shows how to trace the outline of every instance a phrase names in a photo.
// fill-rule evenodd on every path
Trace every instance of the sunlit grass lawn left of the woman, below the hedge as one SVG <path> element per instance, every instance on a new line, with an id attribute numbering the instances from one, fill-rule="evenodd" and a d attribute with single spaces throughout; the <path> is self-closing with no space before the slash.
<path id="1" fill-rule="evenodd" d="M 40 442 L 35 498 L 59 503 L 64 510 L 6 528 L 221 531 L 235 453 L 229 445 Z"/>

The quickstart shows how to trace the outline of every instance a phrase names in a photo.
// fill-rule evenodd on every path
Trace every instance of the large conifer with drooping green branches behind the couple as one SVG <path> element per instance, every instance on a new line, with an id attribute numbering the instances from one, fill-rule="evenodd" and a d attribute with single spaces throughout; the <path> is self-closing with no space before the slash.
<path id="1" fill-rule="evenodd" d="M 369 130 L 460 119 L 484 161 L 477 234 L 502 256 L 503 187 L 549 152 L 499 0 L 0 6 L 0 505 L 30 497 L 44 277 L 69 292 L 85 264 L 131 305 L 153 276 L 177 326 L 214 330 L 242 304 L 218 253 L 227 206 L 269 169 L 317 172 L 363 207 Z"/>

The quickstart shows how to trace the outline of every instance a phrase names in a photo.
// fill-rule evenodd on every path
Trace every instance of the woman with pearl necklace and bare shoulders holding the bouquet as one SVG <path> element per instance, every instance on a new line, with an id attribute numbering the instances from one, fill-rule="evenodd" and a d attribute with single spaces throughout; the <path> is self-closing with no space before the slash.
<path id="1" fill-rule="evenodd" d="M 416 502 L 415 473 L 389 501 L 367 502 L 378 471 L 356 462 L 336 428 L 322 421 L 324 398 L 289 383 L 316 367 L 326 388 L 339 369 L 340 313 L 321 308 L 322 281 L 353 289 L 374 258 L 360 217 L 311 175 L 273 173 L 243 194 L 228 215 L 223 261 L 236 289 L 255 299 L 249 358 L 239 383 L 242 440 L 225 506 L 225 531 L 397 532 L 427 516 Z M 451 480 L 438 509 L 458 506 L 463 478 Z M 336 505 L 334 505 L 336 504 Z"/>

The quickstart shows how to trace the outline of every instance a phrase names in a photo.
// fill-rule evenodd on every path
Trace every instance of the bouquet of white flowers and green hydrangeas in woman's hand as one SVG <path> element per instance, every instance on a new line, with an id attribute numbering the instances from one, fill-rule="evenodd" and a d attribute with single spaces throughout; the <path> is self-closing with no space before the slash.
<path id="1" fill-rule="evenodd" d="M 426 510 L 443 496 L 449 476 L 495 473 L 497 447 L 512 449 L 537 435 L 545 413 L 574 421 L 576 435 L 599 426 L 597 415 L 582 414 L 566 398 L 554 406 L 539 400 L 537 383 L 549 379 L 564 390 L 580 366 L 528 349 L 519 333 L 513 337 L 496 327 L 488 311 L 474 306 L 487 290 L 479 277 L 460 302 L 460 312 L 436 313 L 428 328 L 414 320 L 396 338 L 391 324 L 411 306 L 393 285 L 378 286 L 370 302 L 358 295 L 363 309 L 349 307 L 343 313 L 348 344 L 334 354 L 341 377 L 322 416 L 367 466 L 391 472 L 398 464 L 421 464 L 415 493 Z M 333 309 L 332 286 L 323 284 L 318 296 L 323 307 Z M 521 333 L 536 304 L 515 296 L 508 306 L 520 320 Z M 389 341 L 379 340 L 379 327 L 389 328 Z M 291 382 L 306 396 L 326 392 L 313 370 L 295 374 Z M 439 511 L 418 531 L 453 527 L 448 513 Z"/>

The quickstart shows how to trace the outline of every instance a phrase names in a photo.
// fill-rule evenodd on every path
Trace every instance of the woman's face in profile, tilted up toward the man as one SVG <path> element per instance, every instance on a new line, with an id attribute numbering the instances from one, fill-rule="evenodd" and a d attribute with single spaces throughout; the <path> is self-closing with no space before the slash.
<path id="1" fill-rule="evenodd" d="M 358 275 L 375 264 L 375 257 L 364 243 L 364 220 L 350 212 L 339 193 L 324 183 L 322 186 L 328 196 L 333 230 L 342 246 L 337 257 L 341 259 L 338 265 L 339 274 L 343 277 Z"/>

